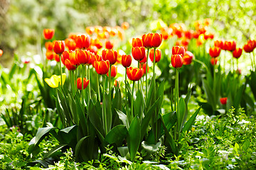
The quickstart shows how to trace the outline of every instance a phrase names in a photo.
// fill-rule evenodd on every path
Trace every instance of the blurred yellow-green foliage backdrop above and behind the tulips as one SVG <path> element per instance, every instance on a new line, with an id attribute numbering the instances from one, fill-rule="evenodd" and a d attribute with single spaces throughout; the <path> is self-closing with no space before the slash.
<path id="1" fill-rule="evenodd" d="M 255 39 L 255 0 L 0 0 L 0 63 L 11 66 L 14 53 L 41 52 L 43 28 L 54 28 L 55 39 L 85 32 L 87 26 L 130 25 L 129 37 L 149 33 L 154 21 L 185 23 L 210 18 L 215 39 L 237 40 L 242 47 Z"/>

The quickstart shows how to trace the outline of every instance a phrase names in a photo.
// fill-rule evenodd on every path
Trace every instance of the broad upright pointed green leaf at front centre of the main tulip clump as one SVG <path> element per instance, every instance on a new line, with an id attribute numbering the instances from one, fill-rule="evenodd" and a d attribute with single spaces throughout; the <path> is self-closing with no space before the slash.
<path id="1" fill-rule="evenodd" d="M 127 145 L 129 148 L 129 153 L 131 155 L 131 160 L 133 161 L 137 151 L 139 149 L 140 137 L 141 137 L 141 125 L 139 122 L 139 118 L 137 116 L 134 117 L 132 123 L 128 130 L 127 137 Z"/>

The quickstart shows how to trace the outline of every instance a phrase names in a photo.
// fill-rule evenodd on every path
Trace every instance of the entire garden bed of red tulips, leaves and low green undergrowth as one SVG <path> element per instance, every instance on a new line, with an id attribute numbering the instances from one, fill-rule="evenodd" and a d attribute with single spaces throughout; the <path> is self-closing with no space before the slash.
<path id="1" fill-rule="evenodd" d="M 0 169 L 255 169 L 256 40 L 149 25 L 43 28 L 1 66 Z"/>

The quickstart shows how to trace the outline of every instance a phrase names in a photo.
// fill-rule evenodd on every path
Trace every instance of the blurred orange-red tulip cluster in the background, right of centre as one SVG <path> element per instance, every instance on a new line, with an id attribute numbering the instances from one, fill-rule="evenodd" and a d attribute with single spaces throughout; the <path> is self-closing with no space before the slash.
<path id="1" fill-rule="evenodd" d="M 205 40 L 213 40 L 214 34 L 208 31 L 210 26 L 210 18 L 206 18 L 203 23 L 196 21 L 194 26 L 195 30 L 187 30 L 184 23 L 172 23 L 169 27 L 161 28 L 161 34 L 164 40 L 173 38 L 174 35 L 178 38 L 176 46 L 183 46 L 188 49 L 189 42 L 194 38 L 196 45 L 203 45 Z"/>

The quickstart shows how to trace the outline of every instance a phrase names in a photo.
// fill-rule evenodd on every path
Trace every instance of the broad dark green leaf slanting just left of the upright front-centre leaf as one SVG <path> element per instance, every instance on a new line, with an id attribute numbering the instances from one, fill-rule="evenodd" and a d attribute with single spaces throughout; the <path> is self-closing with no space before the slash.
<path id="1" fill-rule="evenodd" d="M 108 144 L 115 143 L 117 147 L 122 146 L 122 142 L 124 141 L 124 137 L 126 137 L 127 133 L 128 131 L 125 125 L 117 125 L 107 133 L 105 141 Z"/>

